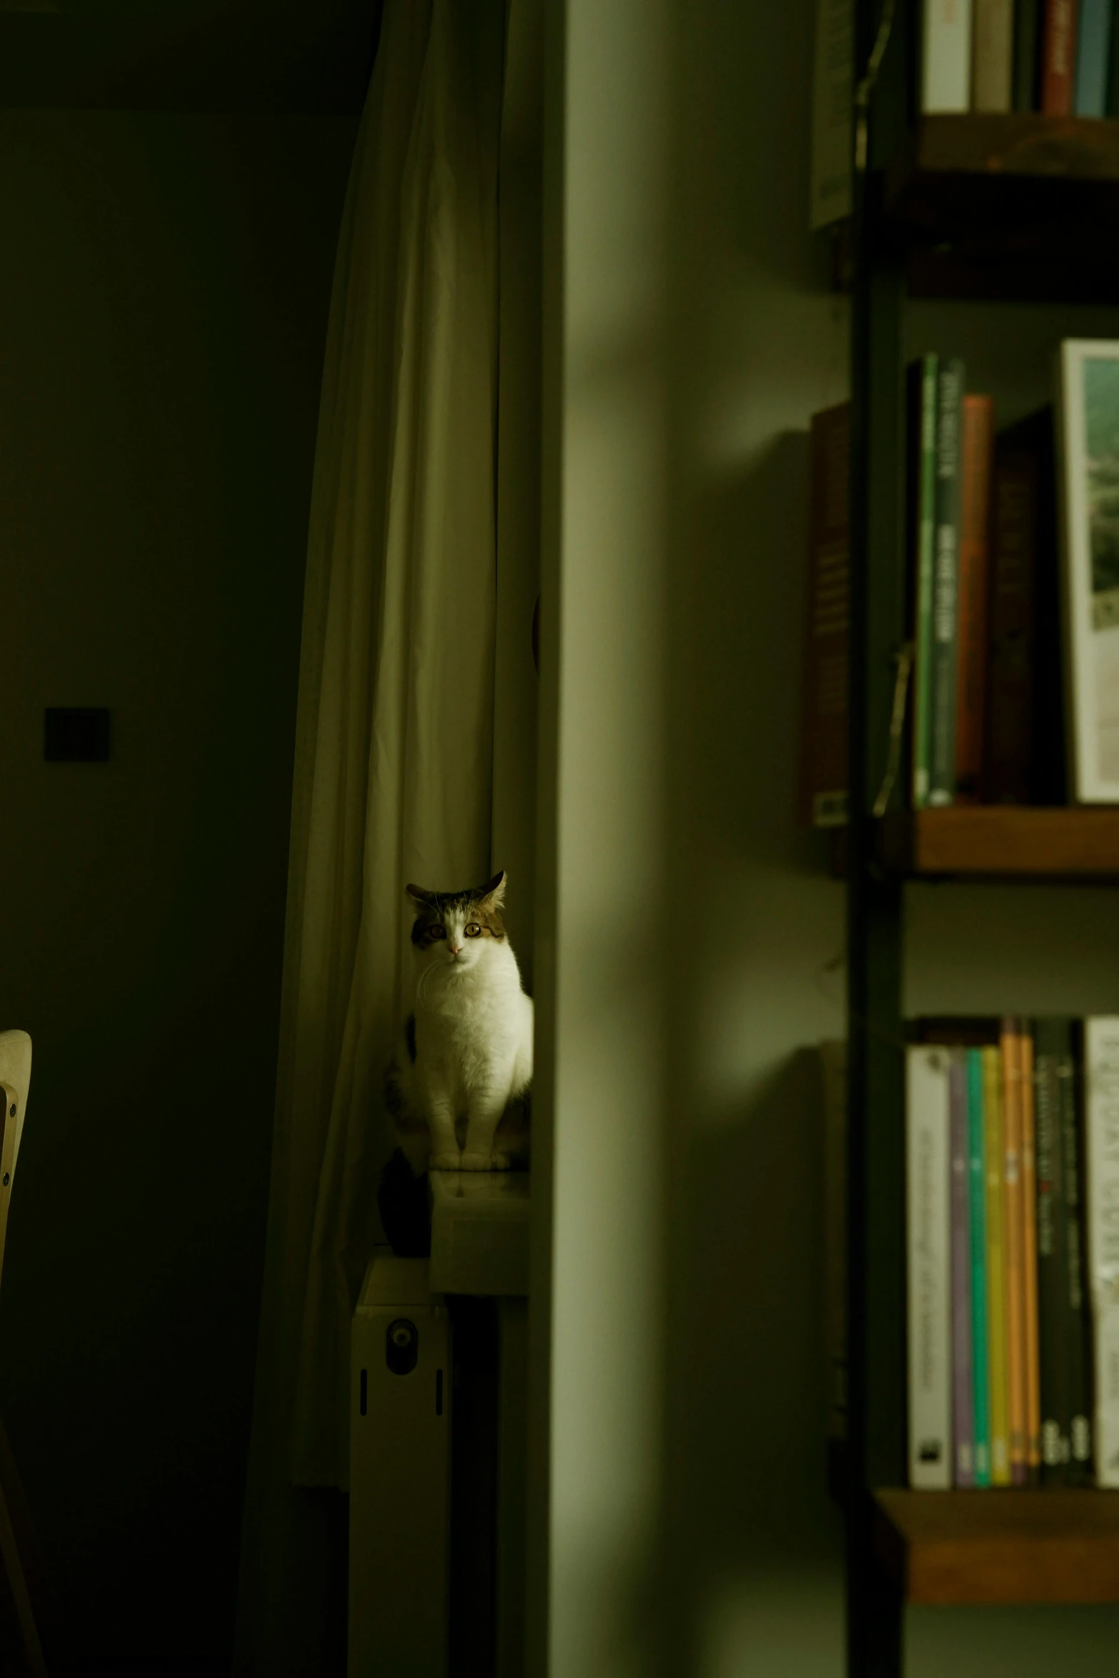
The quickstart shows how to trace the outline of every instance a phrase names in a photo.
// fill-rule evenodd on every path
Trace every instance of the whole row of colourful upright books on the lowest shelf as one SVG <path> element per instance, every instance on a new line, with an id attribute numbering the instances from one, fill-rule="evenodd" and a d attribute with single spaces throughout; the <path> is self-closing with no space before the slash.
<path id="1" fill-rule="evenodd" d="M 909 1482 L 1119 1487 L 1119 1019 L 914 1035 Z"/>

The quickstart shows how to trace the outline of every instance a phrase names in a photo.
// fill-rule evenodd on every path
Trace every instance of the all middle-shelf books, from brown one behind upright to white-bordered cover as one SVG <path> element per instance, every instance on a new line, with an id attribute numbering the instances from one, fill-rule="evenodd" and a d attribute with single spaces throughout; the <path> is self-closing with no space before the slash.
<path id="1" fill-rule="evenodd" d="M 799 819 L 846 821 L 849 404 L 812 420 Z M 908 374 L 916 809 L 1119 800 L 1119 342 L 1060 346 L 995 430 L 958 356 Z"/>

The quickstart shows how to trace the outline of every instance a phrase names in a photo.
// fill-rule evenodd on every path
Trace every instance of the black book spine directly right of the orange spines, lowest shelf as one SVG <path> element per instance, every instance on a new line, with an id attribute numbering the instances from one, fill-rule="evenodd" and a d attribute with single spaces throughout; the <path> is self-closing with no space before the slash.
<path id="1" fill-rule="evenodd" d="M 1042 1482 L 1060 1485 L 1069 1463 L 1069 1349 L 1065 1344 L 1065 1195 L 1060 1141 L 1064 1020 L 1033 1027 L 1037 1119 L 1037 1312 L 1042 1381 Z"/>

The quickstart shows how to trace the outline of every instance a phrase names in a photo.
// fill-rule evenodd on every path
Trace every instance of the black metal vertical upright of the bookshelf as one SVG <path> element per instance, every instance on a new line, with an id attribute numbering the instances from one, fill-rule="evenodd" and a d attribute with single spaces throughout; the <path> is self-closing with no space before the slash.
<path id="1" fill-rule="evenodd" d="M 889 0 L 886 0 L 889 5 Z M 901 10 L 904 0 L 898 0 Z M 893 8 L 891 8 L 893 10 Z M 882 5 L 857 0 L 856 86 L 872 65 Z M 874 802 L 904 641 L 904 414 L 901 258 L 884 237 L 877 158 L 898 109 L 898 32 L 867 91 L 852 173 L 851 780 L 847 861 L 847 1673 L 899 1678 L 903 1604 L 874 1547 L 876 1487 L 904 1485 L 903 888 L 876 864 Z M 893 101 L 893 104 L 891 104 Z M 898 792 L 893 794 L 898 804 Z"/>

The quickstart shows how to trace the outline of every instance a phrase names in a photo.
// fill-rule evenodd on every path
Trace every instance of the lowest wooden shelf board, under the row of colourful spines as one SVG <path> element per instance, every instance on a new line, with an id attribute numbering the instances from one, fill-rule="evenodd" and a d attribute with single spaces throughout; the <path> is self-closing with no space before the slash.
<path id="1" fill-rule="evenodd" d="M 904 1601 L 1119 1602 L 1119 1495 L 876 1492 L 879 1561 Z"/>

